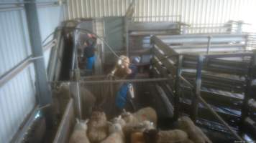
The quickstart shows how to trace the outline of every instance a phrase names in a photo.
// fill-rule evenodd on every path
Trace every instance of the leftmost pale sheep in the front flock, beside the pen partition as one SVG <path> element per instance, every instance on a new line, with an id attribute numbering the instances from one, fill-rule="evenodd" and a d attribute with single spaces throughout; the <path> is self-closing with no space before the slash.
<path id="1" fill-rule="evenodd" d="M 87 123 L 82 120 L 76 119 L 76 125 L 74 127 L 73 133 L 70 136 L 69 143 L 90 143 L 86 135 Z"/>

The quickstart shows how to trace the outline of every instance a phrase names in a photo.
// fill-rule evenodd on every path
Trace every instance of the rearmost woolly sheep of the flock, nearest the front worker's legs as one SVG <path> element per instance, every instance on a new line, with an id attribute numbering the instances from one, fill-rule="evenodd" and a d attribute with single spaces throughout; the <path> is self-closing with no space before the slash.
<path id="1" fill-rule="evenodd" d="M 124 111 L 124 113 L 122 113 L 122 118 L 127 124 L 137 124 L 138 122 L 148 120 L 153 122 L 155 127 L 157 126 L 157 113 L 155 112 L 155 109 L 152 109 L 151 107 L 142 108 L 134 114 Z"/>

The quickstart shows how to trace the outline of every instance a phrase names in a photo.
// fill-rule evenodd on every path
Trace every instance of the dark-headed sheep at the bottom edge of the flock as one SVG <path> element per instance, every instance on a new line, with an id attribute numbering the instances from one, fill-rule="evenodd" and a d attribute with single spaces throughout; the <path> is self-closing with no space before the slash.
<path id="1" fill-rule="evenodd" d="M 180 129 L 157 131 L 150 129 L 143 132 L 145 141 L 148 143 L 185 143 L 190 142 L 188 134 Z"/>

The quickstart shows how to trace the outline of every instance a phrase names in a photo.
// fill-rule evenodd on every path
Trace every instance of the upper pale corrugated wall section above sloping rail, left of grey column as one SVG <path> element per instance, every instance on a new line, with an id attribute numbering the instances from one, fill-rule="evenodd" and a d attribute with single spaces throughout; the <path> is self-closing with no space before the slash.
<path id="1" fill-rule="evenodd" d="M 12 69 L 31 54 L 24 35 L 22 11 L 0 13 L 0 75 Z"/>

